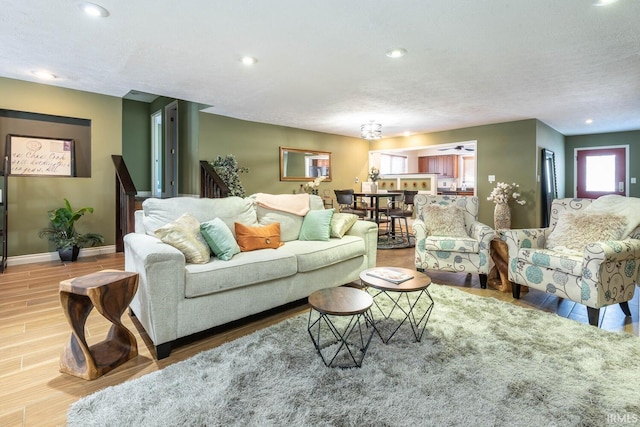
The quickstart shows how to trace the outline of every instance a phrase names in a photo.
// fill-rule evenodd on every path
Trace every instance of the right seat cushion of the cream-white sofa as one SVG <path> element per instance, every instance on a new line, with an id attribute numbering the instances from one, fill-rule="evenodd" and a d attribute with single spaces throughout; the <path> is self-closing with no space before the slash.
<path id="1" fill-rule="evenodd" d="M 364 240 L 355 236 L 344 236 L 342 239 L 330 239 L 327 242 L 294 240 L 285 243 L 281 250 L 295 254 L 300 273 L 365 254 Z"/>

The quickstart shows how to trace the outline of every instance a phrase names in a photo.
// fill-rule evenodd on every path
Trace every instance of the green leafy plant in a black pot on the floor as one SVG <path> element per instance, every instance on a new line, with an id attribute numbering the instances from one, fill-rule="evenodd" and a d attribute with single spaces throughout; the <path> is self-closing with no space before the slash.
<path id="1" fill-rule="evenodd" d="M 75 229 L 75 222 L 85 213 L 93 213 L 93 208 L 82 208 L 74 211 L 67 199 L 65 206 L 48 212 L 50 227 L 43 228 L 38 236 L 53 242 L 61 261 L 75 261 L 78 259 L 80 248 L 94 246 L 104 242 L 104 237 L 96 233 L 79 234 Z"/>

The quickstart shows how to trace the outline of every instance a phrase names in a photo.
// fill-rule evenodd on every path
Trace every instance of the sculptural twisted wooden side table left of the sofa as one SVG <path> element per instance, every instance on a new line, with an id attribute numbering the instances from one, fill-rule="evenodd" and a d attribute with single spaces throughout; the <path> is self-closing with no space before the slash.
<path id="1" fill-rule="evenodd" d="M 138 355 L 135 336 L 120 321 L 137 289 L 138 273 L 118 270 L 60 282 L 60 303 L 72 329 L 60 372 L 93 380 Z M 112 325 L 104 341 L 89 347 L 84 326 L 94 306 Z"/>

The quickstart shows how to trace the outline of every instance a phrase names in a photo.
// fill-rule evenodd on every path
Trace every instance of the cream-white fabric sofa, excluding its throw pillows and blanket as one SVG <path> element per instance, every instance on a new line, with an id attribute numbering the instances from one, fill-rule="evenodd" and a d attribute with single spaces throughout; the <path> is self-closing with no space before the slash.
<path id="1" fill-rule="evenodd" d="M 310 209 L 324 209 L 311 195 Z M 124 237 L 125 269 L 139 273 L 132 314 L 156 347 L 167 357 L 182 337 L 300 300 L 312 292 L 358 279 L 376 264 L 378 229 L 357 221 L 342 238 L 301 241 L 304 217 L 268 209 L 247 198 L 147 199 L 135 214 L 135 233 Z M 212 256 L 204 264 L 189 264 L 183 253 L 155 237 L 154 231 L 190 213 L 205 222 L 219 217 L 234 230 L 234 222 L 249 226 L 279 222 L 278 249 L 241 252 L 228 261 Z"/>

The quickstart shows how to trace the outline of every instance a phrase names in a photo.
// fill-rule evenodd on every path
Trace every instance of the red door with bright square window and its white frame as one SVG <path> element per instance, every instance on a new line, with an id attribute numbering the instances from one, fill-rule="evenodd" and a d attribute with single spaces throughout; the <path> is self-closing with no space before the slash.
<path id="1" fill-rule="evenodd" d="M 576 197 L 627 195 L 628 146 L 576 148 Z"/>

